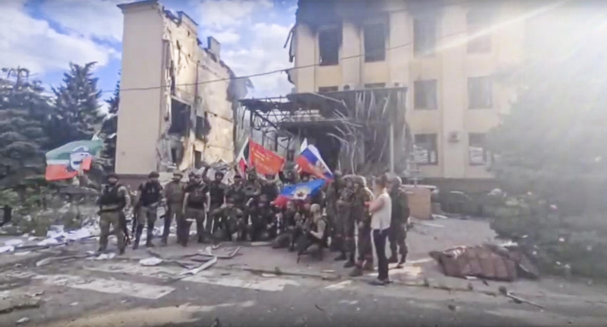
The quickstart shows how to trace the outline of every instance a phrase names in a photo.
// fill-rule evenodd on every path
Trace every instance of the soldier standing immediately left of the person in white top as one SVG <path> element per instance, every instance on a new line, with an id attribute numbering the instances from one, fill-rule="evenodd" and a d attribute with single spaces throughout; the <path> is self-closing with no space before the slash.
<path id="1" fill-rule="evenodd" d="M 362 214 L 358 216 L 356 228 L 358 229 L 358 260 L 356 267 L 350 273 L 351 277 L 361 276 L 363 271 L 373 271 L 373 245 L 371 241 L 371 214 L 368 203 L 373 200 L 373 191 L 367 187 L 367 180 L 359 177 L 359 199 L 364 204 Z"/>

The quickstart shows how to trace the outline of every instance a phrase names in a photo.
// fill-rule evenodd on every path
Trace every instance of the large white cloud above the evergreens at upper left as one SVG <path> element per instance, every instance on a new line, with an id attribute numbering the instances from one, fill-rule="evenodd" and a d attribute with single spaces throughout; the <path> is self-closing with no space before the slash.
<path id="1" fill-rule="evenodd" d="M 27 15 L 21 1 L 2 2 L 0 8 L 0 67 L 22 66 L 44 73 L 66 69 L 70 61 L 97 61 L 97 66 L 104 66 L 118 56 L 116 50 L 89 38 L 58 33 L 47 21 Z"/>

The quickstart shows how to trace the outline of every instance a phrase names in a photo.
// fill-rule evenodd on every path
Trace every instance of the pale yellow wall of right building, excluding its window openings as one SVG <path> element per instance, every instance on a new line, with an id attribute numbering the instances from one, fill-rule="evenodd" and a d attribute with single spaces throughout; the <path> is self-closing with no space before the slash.
<path id="1" fill-rule="evenodd" d="M 494 78 L 492 108 L 468 109 L 467 78 L 496 76 L 518 67 L 524 58 L 524 21 L 520 19 L 521 8 L 504 5 L 495 12 L 493 21 L 499 24 L 490 29 L 490 52 L 467 53 L 466 3 L 451 1 L 436 9 L 436 54 L 428 58 L 416 58 L 413 53 L 415 13 L 405 7 L 404 1 L 377 1 L 373 8 L 381 8 L 382 15 L 368 15 L 363 21 L 343 18 L 340 58 L 364 53 L 361 23 L 384 19 L 379 17 L 387 14 L 385 60 L 364 62 L 364 57 L 345 58 L 336 66 L 297 69 L 297 77 L 293 79 L 296 92 L 317 92 L 319 87 L 327 86 L 340 90 L 346 85 L 362 88 L 370 83 L 393 87 L 399 83 L 408 88 L 406 115 L 413 133 L 436 133 L 438 138 L 438 164 L 420 165 L 422 176 L 491 178 L 486 166 L 470 166 L 468 134 L 485 133 L 496 126 L 500 114 L 509 111 L 515 87 L 507 80 Z M 295 35 L 295 66 L 317 64 L 317 35 L 306 24 L 297 24 Z M 419 79 L 437 80 L 436 110 L 414 108 L 413 83 Z M 449 141 L 452 132 L 458 133 L 458 141 Z"/>

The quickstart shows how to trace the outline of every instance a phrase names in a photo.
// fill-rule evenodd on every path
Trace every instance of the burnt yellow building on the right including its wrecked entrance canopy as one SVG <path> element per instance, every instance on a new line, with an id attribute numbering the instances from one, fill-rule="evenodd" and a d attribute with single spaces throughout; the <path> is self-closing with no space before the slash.
<path id="1" fill-rule="evenodd" d="M 316 139 L 338 157 L 327 160 L 333 169 L 388 169 L 392 149 L 397 172 L 413 166 L 427 180 L 483 184 L 492 177 L 484 135 L 515 94 L 503 73 L 523 58 L 524 21 L 513 19 L 521 10 L 500 1 L 299 0 L 294 94 L 286 104 L 245 105 L 262 115 L 279 107 L 270 120 L 279 135 Z"/>

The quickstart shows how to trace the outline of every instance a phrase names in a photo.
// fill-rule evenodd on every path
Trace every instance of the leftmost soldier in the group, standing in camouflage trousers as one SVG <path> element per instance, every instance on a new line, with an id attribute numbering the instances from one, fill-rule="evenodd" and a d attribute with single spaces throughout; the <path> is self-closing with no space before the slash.
<path id="1" fill-rule="evenodd" d="M 99 252 L 107 250 L 107 237 L 110 232 L 110 225 L 114 228 L 114 233 L 118 240 L 118 251 L 124 253 L 124 226 L 120 224 L 120 216 L 123 210 L 131 206 L 131 196 L 126 187 L 118 184 L 118 175 L 112 173 L 107 175 L 107 185 L 102 186 L 99 198 L 99 228 L 101 235 L 99 238 Z"/>

